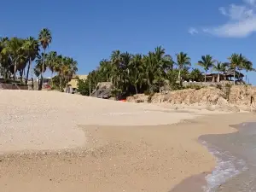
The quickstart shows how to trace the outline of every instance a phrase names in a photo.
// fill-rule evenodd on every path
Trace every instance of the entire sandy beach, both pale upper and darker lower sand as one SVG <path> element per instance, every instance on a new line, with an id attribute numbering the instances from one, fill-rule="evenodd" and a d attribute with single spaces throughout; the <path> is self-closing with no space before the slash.
<path id="1" fill-rule="evenodd" d="M 186 179 L 215 166 L 198 137 L 255 118 L 57 92 L 0 94 L 3 191 L 192 192 Z"/>

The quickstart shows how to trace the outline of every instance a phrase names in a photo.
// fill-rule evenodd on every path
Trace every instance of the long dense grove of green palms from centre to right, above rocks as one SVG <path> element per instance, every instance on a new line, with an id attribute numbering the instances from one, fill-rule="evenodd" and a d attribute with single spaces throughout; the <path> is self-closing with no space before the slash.
<path id="1" fill-rule="evenodd" d="M 187 53 L 180 52 L 173 58 L 162 47 L 156 47 L 147 55 L 131 54 L 114 50 L 109 59 L 100 61 L 99 66 L 89 73 L 87 79 L 79 80 L 79 92 L 90 95 L 90 90 L 97 89 L 99 82 L 111 82 L 113 92 L 118 96 L 130 96 L 137 93 L 159 92 L 166 84 L 172 90 L 183 89 L 183 81 L 207 81 L 207 73 L 215 71 L 225 75 L 234 69 L 234 84 L 241 80 L 240 73 L 253 71 L 253 63 L 243 55 L 233 54 L 229 62 L 219 62 L 212 55 L 202 55 L 201 60 L 191 67 Z"/>

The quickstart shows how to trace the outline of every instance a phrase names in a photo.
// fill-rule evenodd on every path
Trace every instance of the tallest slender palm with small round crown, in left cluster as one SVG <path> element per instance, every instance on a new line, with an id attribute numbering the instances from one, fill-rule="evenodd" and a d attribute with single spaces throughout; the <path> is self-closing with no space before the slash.
<path id="1" fill-rule="evenodd" d="M 49 29 L 47 28 L 42 29 L 41 32 L 39 33 L 38 41 L 40 42 L 41 46 L 44 49 L 44 55 L 45 55 L 45 50 L 48 48 L 49 44 L 51 43 L 51 40 L 52 40 L 52 37 Z M 41 82 L 40 82 L 39 90 L 42 90 L 42 86 L 43 86 L 43 79 L 44 79 L 43 75 L 44 75 L 44 65 L 45 65 L 44 62 L 45 62 L 45 58 L 43 57 Z"/>

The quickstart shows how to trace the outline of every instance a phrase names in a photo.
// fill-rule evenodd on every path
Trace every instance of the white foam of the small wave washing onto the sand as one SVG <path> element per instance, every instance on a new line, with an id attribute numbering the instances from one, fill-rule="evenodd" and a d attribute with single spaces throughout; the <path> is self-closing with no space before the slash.
<path id="1" fill-rule="evenodd" d="M 247 170 L 244 160 L 238 159 L 229 152 L 222 151 L 216 146 L 210 147 L 206 142 L 202 142 L 202 144 L 217 159 L 217 166 L 211 174 L 206 176 L 207 186 L 202 187 L 205 192 L 214 192 L 218 186 L 225 183 L 228 179 Z"/>

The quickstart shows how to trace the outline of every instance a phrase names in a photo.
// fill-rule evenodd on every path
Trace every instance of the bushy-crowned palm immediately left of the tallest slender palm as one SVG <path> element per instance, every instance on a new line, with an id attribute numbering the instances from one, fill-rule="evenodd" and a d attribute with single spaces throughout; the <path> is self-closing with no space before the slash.
<path id="1" fill-rule="evenodd" d="M 26 56 L 28 57 L 28 67 L 26 72 L 26 84 L 27 84 L 28 74 L 32 66 L 32 61 L 36 59 L 36 57 L 38 56 L 38 52 L 40 50 L 38 41 L 32 37 L 27 38 L 25 41 L 25 44 L 23 44 L 23 49 L 25 51 Z M 32 75 L 32 70 L 31 70 L 31 75 Z M 33 81 L 32 81 L 32 84 L 33 84 Z"/>

